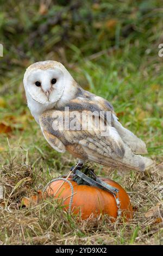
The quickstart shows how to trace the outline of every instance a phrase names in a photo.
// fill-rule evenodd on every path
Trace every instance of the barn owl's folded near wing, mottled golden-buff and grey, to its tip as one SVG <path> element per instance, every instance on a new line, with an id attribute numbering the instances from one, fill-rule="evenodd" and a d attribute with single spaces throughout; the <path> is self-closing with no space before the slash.
<path id="1" fill-rule="evenodd" d="M 79 112 L 79 111 L 77 111 Z M 95 161 L 104 164 L 105 166 L 129 168 L 136 170 L 143 170 L 147 165 L 151 164 L 151 160 L 146 157 L 134 155 L 131 149 L 125 144 L 118 135 L 115 127 L 109 127 L 109 136 L 101 136 L 103 130 L 95 127 L 95 123 L 88 119 L 88 127 L 91 130 L 63 130 L 58 126 L 58 119 L 53 118 L 58 115 L 60 120 L 65 116 L 64 111 L 49 110 L 40 116 L 41 129 L 54 149 L 59 149 L 64 152 L 66 148 L 73 148 L 73 151 L 80 150 L 80 158 Z M 62 119 L 65 124 L 65 118 Z M 82 119 L 77 118 L 78 125 L 81 124 Z M 89 122 L 91 122 L 89 124 Z M 71 123 L 71 122 L 70 122 Z M 80 126 L 81 127 L 81 126 Z M 103 129 L 103 128 L 102 128 Z M 59 151 L 58 150 L 58 151 Z M 83 153 L 82 153 L 83 152 Z"/>

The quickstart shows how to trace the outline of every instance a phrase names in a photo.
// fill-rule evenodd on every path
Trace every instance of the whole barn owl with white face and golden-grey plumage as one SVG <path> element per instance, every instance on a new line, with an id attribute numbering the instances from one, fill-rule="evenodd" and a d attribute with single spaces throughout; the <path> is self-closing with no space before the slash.
<path id="1" fill-rule="evenodd" d="M 121 125 L 112 105 L 80 87 L 61 63 L 47 60 L 30 65 L 23 83 L 30 112 L 53 149 L 60 153 L 69 151 L 79 159 L 79 164 L 91 161 L 106 167 L 141 171 L 153 164 L 151 159 L 137 155 L 147 153 L 146 144 Z M 66 123 L 67 109 L 88 116 L 92 112 L 109 112 L 110 122 L 103 115 L 108 135 L 102 136 L 101 128 L 95 129 L 89 118 L 84 123 L 89 123 L 92 129 L 64 130 L 60 126 L 54 129 L 57 117 Z M 81 123 L 80 118 L 77 123 Z"/>

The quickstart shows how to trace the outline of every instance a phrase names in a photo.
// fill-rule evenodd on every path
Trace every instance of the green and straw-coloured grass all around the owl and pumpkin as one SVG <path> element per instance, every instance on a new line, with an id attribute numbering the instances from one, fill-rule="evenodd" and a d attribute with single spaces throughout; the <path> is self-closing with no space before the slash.
<path id="1" fill-rule="evenodd" d="M 162 9 L 159 1 L 140 2 L 101 1 L 93 6 L 91 22 L 87 19 L 92 8 L 89 1 L 87 8 L 76 9 L 83 22 L 65 11 L 69 5 L 51 3 L 46 16 L 41 16 L 37 2 L 26 10 L 23 3 L 3 4 L 0 34 L 6 47 L 0 69 L 0 175 L 5 199 L 0 199 L 0 243 L 162 245 L 163 70 L 158 56 Z M 48 25 L 42 45 L 39 32 L 34 35 L 30 50 L 27 35 L 47 24 L 58 10 L 64 17 L 56 25 Z M 108 20 L 112 23 L 103 26 Z M 69 26 L 66 40 L 60 34 L 65 21 Z M 68 153 L 59 154 L 49 147 L 26 105 L 24 70 L 43 59 L 64 63 L 83 88 L 108 99 L 121 123 L 147 143 L 149 156 L 156 162 L 148 172 L 110 173 L 96 166 L 96 173 L 114 179 L 128 191 L 134 206 L 134 218 L 128 223 L 111 223 L 108 216 L 77 222 L 51 201 L 21 208 L 22 197 L 67 173 L 76 162 Z"/>

